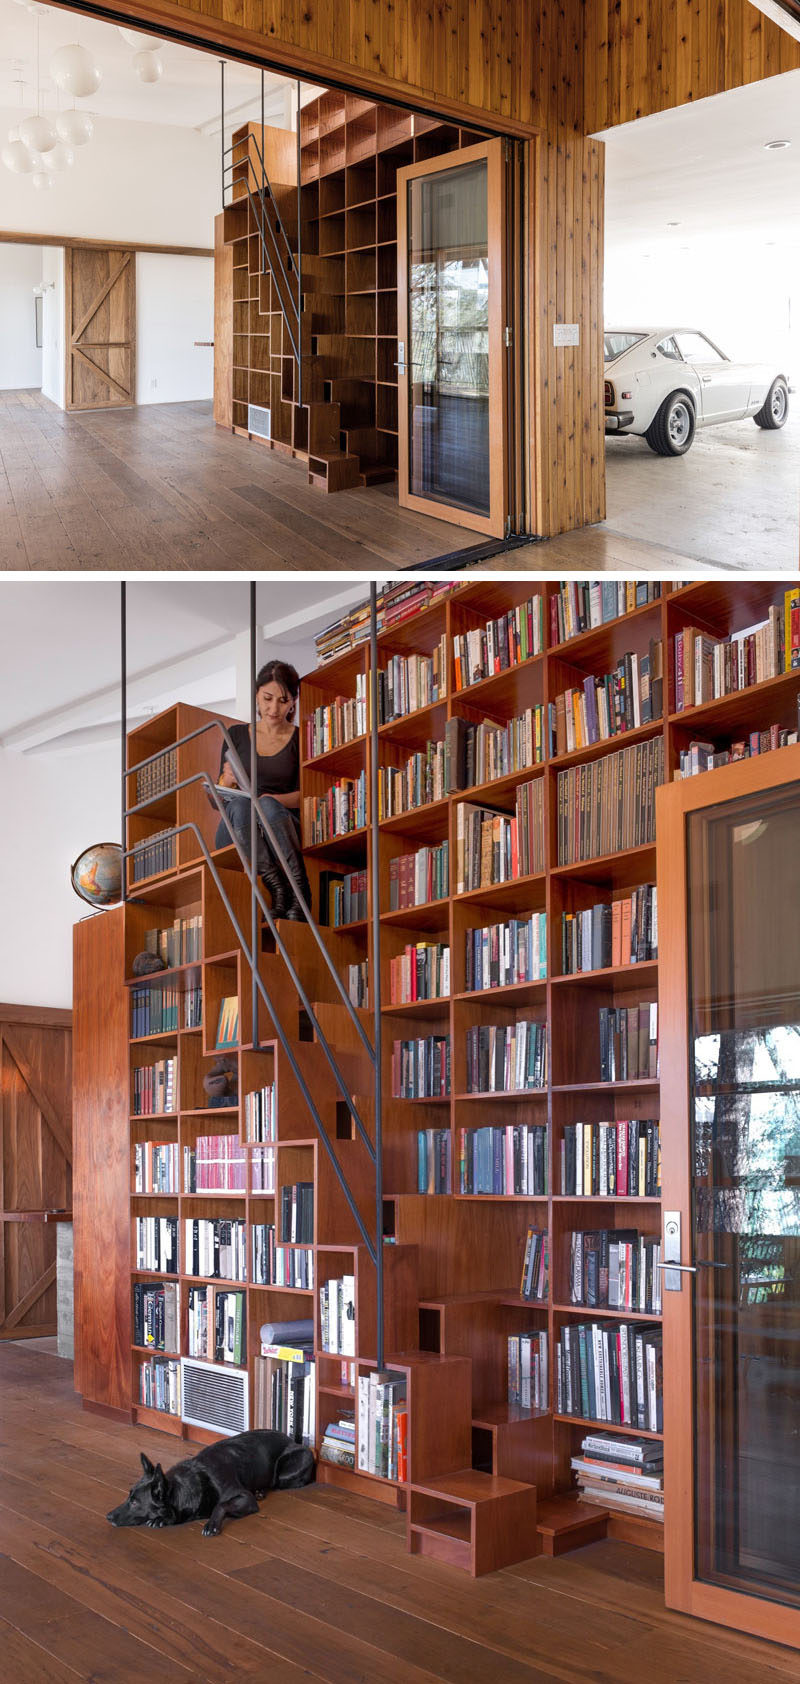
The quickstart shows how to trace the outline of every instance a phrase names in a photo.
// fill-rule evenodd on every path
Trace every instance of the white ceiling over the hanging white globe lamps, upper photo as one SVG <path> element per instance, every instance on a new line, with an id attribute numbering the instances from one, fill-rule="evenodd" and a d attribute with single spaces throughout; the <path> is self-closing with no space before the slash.
<path id="1" fill-rule="evenodd" d="M 219 56 L 199 52 L 173 42 L 152 45 L 163 62 L 158 83 L 140 83 L 131 59 L 136 52 L 123 39 L 116 25 L 61 7 L 39 7 L 39 61 L 44 108 L 57 111 L 72 101 L 61 94 L 49 76 L 49 64 L 57 47 L 81 42 L 103 69 L 96 94 L 79 99 L 81 109 L 96 116 L 115 116 L 138 123 L 168 123 L 184 128 L 205 128 L 219 123 Z M 17 106 L 19 79 L 24 81 L 25 109 L 35 108 L 35 17 L 17 0 L 0 0 L 0 106 Z M 140 40 L 140 47 L 145 39 Z M 285 93 L 291 84 L 283 76 L 264 72 L 266 111 L 283 120 Z M 308 98 L 312 96 L 310 91 Z M 303 99 L 307 96 L 303 94 Z M 237 113 L 237 121 L 261 109 L 261 71 L 249 64 L 227 61 L 226 109 Z M 227 125 L 226 125 L 227 128 Z M 5 136 L 3 136 L 5 140 Z"/>

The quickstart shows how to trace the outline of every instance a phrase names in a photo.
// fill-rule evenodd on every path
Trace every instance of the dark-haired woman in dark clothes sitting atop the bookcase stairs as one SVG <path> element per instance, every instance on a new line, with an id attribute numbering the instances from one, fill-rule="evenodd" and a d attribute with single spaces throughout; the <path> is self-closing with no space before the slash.
<path id="1" fill-rule="evenodd" d="M 266 667 L 261 667 L 256 677 L 256 795 L 290 871 L 286 879 L 259 827 L 258 874 L 273 898 L 273 918 L 303 918 L 296 889 L 310 904 L 300 842 L 300 733 L 295 724 L 298 694 L 300 679 L 286 662 L 268 660 Z M 244 771 L 253 778 L 249 726 L 232 724 L 229 731 Z M 222 795 L 227 818 L 219 822 L 216 845 L 226 847 L 231 829 L 249 859 L 249 800 L 239 790 L 226 744 L 217 785 L 236 795 Z"/>

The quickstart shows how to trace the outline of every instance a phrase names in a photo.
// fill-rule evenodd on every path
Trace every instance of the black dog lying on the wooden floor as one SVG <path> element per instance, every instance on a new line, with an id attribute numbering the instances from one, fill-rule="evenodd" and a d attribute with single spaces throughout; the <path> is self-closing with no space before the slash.
<path id="1" fill-rule="evenodd" d="M 256 1431 L 221 1438 L 165 1474 L 141 1452 L 143 1477 L 125 1502 L 111 1509 L 111 1526 L 182 1526 L 205 1521 L 204 1537 L 216 1537 L 226 1519 L 258 1514 L 268 1490 L 310 1485 L 313 1455 L 286 1433 Z M 205 1519 L 207 1517 L 207 1519 Z"/>

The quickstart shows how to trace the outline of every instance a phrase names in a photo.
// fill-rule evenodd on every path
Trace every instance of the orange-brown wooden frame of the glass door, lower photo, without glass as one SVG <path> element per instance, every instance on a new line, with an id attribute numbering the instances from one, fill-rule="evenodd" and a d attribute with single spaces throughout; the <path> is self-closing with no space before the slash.
<path id="1" fill-rule="evenodd" d="M 662 785 L 655 793 L 662 1209 L 680 1211 L 684 1263 L 692 1233 L 685 820 L 793 781 L 800 783 L 800 743 Z M 692 1303 L 691 1285 L 664 1293 L 664 1596 L 669 1608 L 800 1649 L 800 1608 L 694 1578 Z"/>

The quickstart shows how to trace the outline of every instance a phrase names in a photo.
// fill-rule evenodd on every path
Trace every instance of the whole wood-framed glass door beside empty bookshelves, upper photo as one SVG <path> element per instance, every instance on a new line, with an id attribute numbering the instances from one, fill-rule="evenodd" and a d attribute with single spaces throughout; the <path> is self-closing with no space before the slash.
<path id="1" fill-rule="evenodd" d="M 507 512 L 500 140 L 397 170 L 399 502 L 502 537 Z"/>

